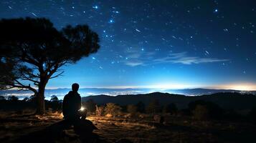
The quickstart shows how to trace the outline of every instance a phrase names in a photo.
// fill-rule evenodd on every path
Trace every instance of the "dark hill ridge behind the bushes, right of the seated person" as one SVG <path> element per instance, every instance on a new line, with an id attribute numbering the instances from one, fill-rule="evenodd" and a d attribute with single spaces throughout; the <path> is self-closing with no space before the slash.
<path id="1" fill-rule="evenodd" d="M 153 92 L 150 94 L 136 94 L 136 95 L 118 95 L 111 97 L 107 95 L 82 97 L 82 101 L 85 102 L 88 99 L 93 99 L 97 104 L 106 104 L 113 102 L 120 105 L 125 104 L 137 104 L 143 102 L 148 104 L 153 99 L 158 99 L 160 104 L 166 105 L 169 103 L 175 103 L 179 109 L 187 107 L 189 102 L 195 100 L 205 100 L 219 104 L 224 109 L 251 109 L 256 106 L 256 96 L 253 94 L 240 94 L 236 92 L 225 92 L 216 94 L 207 94 L 202 96 L 187 97 L 180 94 L 168 94 L 161 92 Z"/>

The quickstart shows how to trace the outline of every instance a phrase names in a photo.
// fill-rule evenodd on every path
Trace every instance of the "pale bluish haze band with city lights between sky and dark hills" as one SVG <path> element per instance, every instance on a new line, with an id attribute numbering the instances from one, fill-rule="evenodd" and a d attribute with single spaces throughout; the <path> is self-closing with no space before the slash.
<path id="1" fill-rule="evenodd" d="M 58 99 L 63 99 L 65 94 L 70 92 L 69 88 L 58 88 L 58 89 L 46 89 L 45 99 L 50 99 L 52 95 L 58 97 Z M 243 91 L 234 89 L 149 89 L 149 88 L 126 88 L 126 89 L 112 89 L 112 88 L 81 88 L 79 93 L 81 97 L 97 96 L 97 95 L 108 95 L 108 96 L 118 96 L 118 95 L 131 95 L 131 94 L 148 94 L 152 92 L 162 92 L 169 94 L 181 94 L 185 96 L 199 96 L 206 94 L 215 94 L 219 92 L 237 92 L 241 94 L 256 94 L 256 91 Z M 4 97 L 16 96 L 19 99 L 24 99 L 25 97 L 30 97 L 34 93 L 31 91 L 18 91 L 18 90 L 3 90 L 0 91 L 0 95 Z"/>

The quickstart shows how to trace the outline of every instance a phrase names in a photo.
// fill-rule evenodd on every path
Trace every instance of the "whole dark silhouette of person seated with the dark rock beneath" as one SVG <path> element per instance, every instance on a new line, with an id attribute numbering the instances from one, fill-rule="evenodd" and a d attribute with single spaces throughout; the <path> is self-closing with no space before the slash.
<path id="1" fill-rule="evenodd" d="M 79 84 L 72 84 L 72 91 L 65 95 L 62 102 L 62 114 L 67 125 L 73 125 L 78 132 L 93 132 L 97 129 L 92 122 L 85 119 L 86 109 L 82 110 L 81 97 L 78 94 Z"/>

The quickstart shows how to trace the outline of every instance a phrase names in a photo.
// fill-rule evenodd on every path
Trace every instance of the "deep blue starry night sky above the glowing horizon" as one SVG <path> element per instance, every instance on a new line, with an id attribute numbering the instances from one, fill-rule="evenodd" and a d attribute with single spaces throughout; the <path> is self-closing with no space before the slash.
<path id="1" fill-rule="evenodd" d="M 256 1 L 4 1 L 0 18 L 88 24 L 100 50 L 47 88 L 256 89 Z"/>

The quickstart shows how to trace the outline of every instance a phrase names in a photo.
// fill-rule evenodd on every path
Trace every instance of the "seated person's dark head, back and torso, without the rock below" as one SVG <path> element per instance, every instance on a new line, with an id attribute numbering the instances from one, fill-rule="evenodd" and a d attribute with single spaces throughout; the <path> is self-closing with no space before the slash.
<path id="1" fill-rule="evenodd" d="M 65 95 L 62 103 L 62 113 L 65 119 L 79 119 L 81 108 L 81 97 L 77 93 L 79 89 L 78 84 L 72 84 L 72 91 Z"/>

